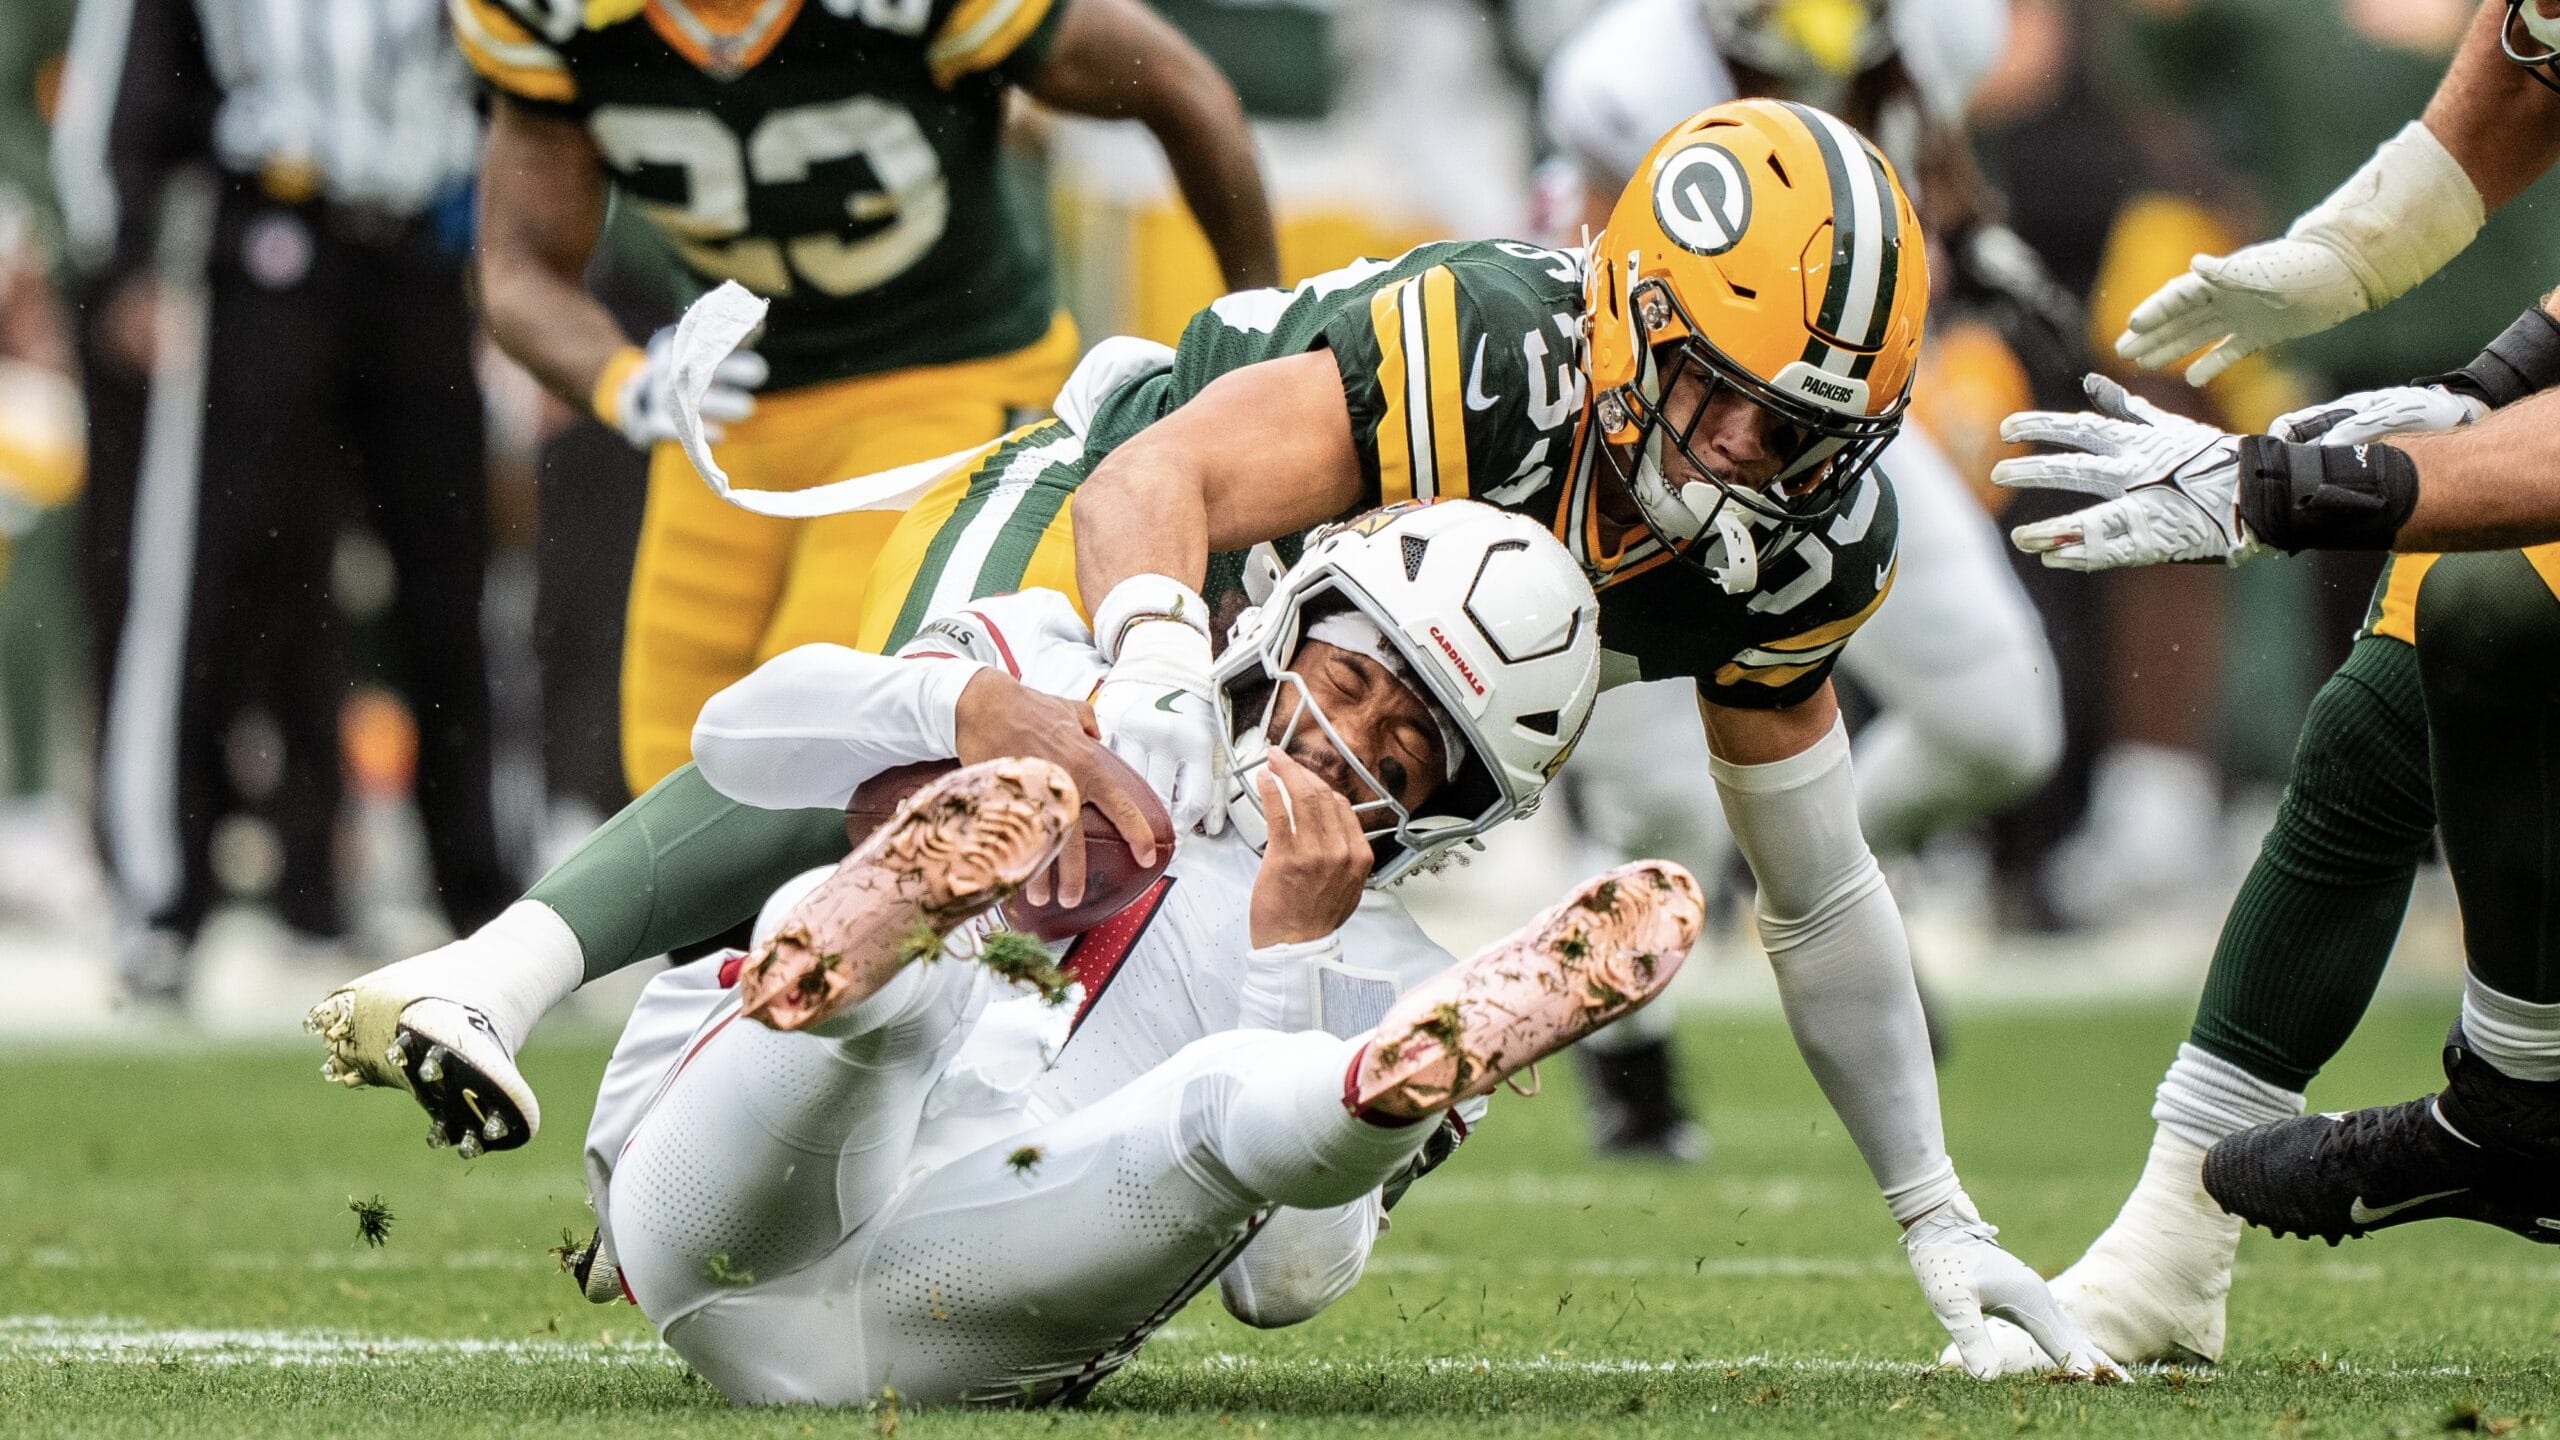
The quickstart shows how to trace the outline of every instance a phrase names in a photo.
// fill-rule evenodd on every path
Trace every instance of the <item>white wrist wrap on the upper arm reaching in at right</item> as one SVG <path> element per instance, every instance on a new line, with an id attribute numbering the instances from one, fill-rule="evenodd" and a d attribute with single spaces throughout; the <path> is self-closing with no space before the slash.
<path id="1" fill-rule="evenodd" d="M 2337 251 L 2371 307 L 2445 269 L 2481 233 L 2481 190 L 2435 131 L 2409 120 L 2345 184 L 2286 228 Z"/>

